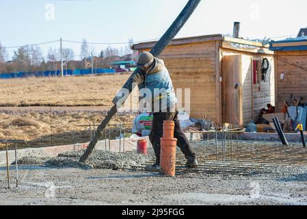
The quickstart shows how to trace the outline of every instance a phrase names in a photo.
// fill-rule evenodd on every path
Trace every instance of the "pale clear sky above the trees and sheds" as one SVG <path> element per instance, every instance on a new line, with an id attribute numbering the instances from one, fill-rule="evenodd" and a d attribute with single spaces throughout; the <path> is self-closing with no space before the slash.
<path id="1" fill-rule="evenodd" d="M 187 0 L 0 0 L 0 42 L 4 47 L 53 40 L 128 42 L 160 38 Z M 232 34 L 241 22 L 243 38 L 295 36 L 307 27 L 306 0 L 202 0 L 176 36 Z M 280 38 L 276 38 L 280 37 Z M 124 47 L 126 44 L 116 44 Z M 49 47 L 41 46 L 46 55 Z M 64 42 L 79 55 L 81 44 Z M 107 45 L 92 45 L 96 53 Z M 12 55 L 16 48 L 7 49 Z"/>

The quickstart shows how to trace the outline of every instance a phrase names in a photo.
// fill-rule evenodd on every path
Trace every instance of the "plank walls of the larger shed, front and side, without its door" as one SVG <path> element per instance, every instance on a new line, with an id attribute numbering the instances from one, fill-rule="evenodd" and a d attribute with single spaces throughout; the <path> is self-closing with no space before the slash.
<path id="1" fill-rule="evenodd" d="M 241 55 L 241 116 L 242 125 L 258 118 L 260 110 L 271 103 L 274 105 L 274 65 L 273 55 L 263 55 L 254 52 L 245 52 L 222 48 L 222 41 L 198 42 L 169 46 L 160 55 L 170 71 L 172 81 L 177 88 L 191 90 L 191 117 L 206 116 L 217 124 L 222 123 L 222 77 L 223 57 L 225 55 Z M 142 51 L 150 51 L 143 49 Z M 252 84 L 252 60 L 268 57 L 271 62 L 271 83 L 261 84 L 261 90 Z M 184 107 L 184 105 L 183 105 Z"/>

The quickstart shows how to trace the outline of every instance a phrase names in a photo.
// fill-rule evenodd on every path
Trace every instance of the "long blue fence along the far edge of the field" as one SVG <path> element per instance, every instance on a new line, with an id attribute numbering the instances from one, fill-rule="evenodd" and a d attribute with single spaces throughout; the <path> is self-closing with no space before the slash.
<path id="1" fill-rule="evenodd" d="M 98 68 L 94 69 L 94 74 L 114 74 L 115 69 Z M 11 78 L 23 78 L 23 77 L 57 77 L 61 75 L 61 70 L 46 70 L 32 73 L 18 72 L 18 73 L 1 73 L 0 79 Z M 64 76 L 66 75 L 92 75 L 92 69 L 76 69 L 76 70 L 64 70 Z"/>

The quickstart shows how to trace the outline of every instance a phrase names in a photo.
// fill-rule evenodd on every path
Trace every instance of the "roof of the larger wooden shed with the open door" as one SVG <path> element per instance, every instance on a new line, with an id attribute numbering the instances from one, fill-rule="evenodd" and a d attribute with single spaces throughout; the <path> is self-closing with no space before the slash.
<path id="1" fill-rule="evenodd" d="M 241 38 L 231 38 L 227 36 L 223 36 L 222 34 L 213 34 L 213 35 L 205 35 L 205 36 L 193 36 L 187 38 L 177 38 L 170 42 L 169 46 L 176 46 L 181 44 L 189 44 L 189 43 L 199 43 L 199 42 L 209 42 L 209 41 L 216 41 L 221 40 L 224 42 L 230 42 L 235 44 L 244 44 L 252 47 L 265 47 L 261 42 L 254 42 L 250 40 L 244 40 Z M 138 44 L 134 44 L 132 49 L 139 50 L 139 49 L 149 49 L 155 46 L 157 41 L 152 42 L 141 42 Z"/>

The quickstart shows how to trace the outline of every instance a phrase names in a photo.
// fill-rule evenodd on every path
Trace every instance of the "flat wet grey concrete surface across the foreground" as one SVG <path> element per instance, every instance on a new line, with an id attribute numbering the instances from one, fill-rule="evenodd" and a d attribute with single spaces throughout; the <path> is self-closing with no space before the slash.
<path id="1" fill-rule="evenodd" d="M 307 205 L 307 177 L 295 178 L 293 171 L 288 177 L 161 177 L 122 170 L 27 167 L 20 171 L 20 186 L 8 190 L 1 168 L 0 205 Z"/>

